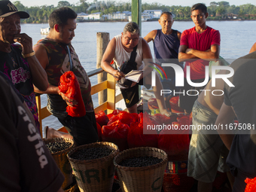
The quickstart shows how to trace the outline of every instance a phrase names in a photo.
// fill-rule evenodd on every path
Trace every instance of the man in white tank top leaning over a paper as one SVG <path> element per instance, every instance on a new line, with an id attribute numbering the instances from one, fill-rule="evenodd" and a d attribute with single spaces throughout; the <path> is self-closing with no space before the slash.
<path id="1" fill-rule="evenodd" d="M 130 59 L 133 48 L 136 46 L 137 54 L 135 61 L 137 63 L 137 69 L 144 70 L 144 82 L 145 84 L 151 84 L 152 68 L 147 67 L 150 63 L 145 62 L 146 60 L 148 61 L 149 59 L 152 59 L 151 50 L 147 41 L 139 36 L 139 26 L 134 22 L 127 23 L 121 35 L 115 36 L 108 43 L 108 47 L 106 48 L 102 57 L 102 69 L 104 69 L 105 72 L 113 75 L 116 81 L 123 78 L 123 72 L 120 72 L 118 69 L 120 69 L 120 67 L 123 65 L 123 62 L 126 62 Z M 110 63 L 112 59 L 114 59 L 114 62 L 117 65 L 117 69 L 114 69 L 111 66 Z M 133 82 L 131 87 L 126 89 L 121 88 L 120 90 L 128 111 L 130 113 L 137 113 L 137 102 L 139 102 L 139 84 Z M 156 86 L 153 87 L 154 95 L 157 98 L 157 104 L 161 114 L 166 114 L 166 116 L 169 116 L 171 113 L 166 110 L 163 96 L 160 96 L 160 90 L 163 90 L 163 86 L 157 76 Z"/>

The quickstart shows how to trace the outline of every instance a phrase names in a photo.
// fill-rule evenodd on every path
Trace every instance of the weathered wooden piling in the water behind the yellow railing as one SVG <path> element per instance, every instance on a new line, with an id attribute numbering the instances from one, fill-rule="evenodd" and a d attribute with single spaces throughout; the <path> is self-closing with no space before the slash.
<path id="1" fill-rule="evenodd" d="M 97 66 L 96 68 L 101 68 L 102 56 L 105 49 L 108 46 L 109 33 L 108 32 L 97 32 Z M 107 80 L 107 73 L 102 72 L 98 75 L 98 83 Z M 107 101 L 107 90 L 102 90 L 98 93 L 99 105 Z"/>

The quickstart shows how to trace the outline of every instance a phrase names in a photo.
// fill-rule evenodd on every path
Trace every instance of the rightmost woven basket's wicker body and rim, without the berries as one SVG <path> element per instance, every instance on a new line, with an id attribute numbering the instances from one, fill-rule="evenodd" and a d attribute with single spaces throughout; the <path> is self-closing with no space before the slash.
<path id="1" fill-rule="evenodd" d="M 132 157 L 158 157 L 163 159 L 160 163 L 144 167 L 119 166 L 122 160 Z M 150 192 L 161 191 L 163 174 L 166 169 L 167 154 L 159 148 L 130 148 L 114 157 L 114 166 L 120 180 L 120 187 L 124 192 Z"/>

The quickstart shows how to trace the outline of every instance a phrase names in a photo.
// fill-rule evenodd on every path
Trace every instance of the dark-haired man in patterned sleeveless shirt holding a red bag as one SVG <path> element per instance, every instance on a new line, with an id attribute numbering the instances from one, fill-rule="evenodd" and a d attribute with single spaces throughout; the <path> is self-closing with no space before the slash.
<path id="1" fill-rule="evenodd" d="M 93 101 L 90 95 L 91 85 L 87 72 L 81 66 L 78 55 L 71 45 L 75 37 L 77 14 L 70 8 L 59 8 L 49 17 L 50 32 L 46 38 L 35 45 L 35 55 L 48 76 L 49 87 L 47 93 L 47 109 L 58 117 L 59 122 L 73 136 L 76 145 L 85 145 L 99 140 L 96 129 L 96 119 Z M 70 54 L 69 54 L 70 52 Z M 70 59 L 72 63 L 70 63 Z M 78 78 L 81 95 L 86 108 L 84 117 L 71 117 L 66 113 L 67 105 L 78 105 L 77 101 L 69 100 L 63 93 L 59 93 L 59 78 L 65 72 L 72 71 Z M 47 132 L 47 130 L 46 130 Z"/>

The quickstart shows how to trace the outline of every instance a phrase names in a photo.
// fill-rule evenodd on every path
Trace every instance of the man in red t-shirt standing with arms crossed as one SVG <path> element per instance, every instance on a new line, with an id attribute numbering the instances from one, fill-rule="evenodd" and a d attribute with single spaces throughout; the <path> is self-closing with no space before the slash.
<path id="1" fill-rule="evenodd" d="M 182 32 L 178 50 L 178 60 L 180 62 L 186 61 L 184 66 L 184 90 L 180 91 L 180 106 L 184 108 L 185 113 L 192 111 L 200 90 L 205 87 L 193 87 L 187 84 L 187 66 L 190 66 L 190 80 L 192 82 L 204 82 L 206 78 L 205 67 L 209 66 L 210 59 L 218 59 L 221 42 L 220 32 L 206 26 L 206 18 L 208 17 L 206 5 L 201 3 L 193 5 L 190 17 L 195 23 L 195 27 Z"/>

